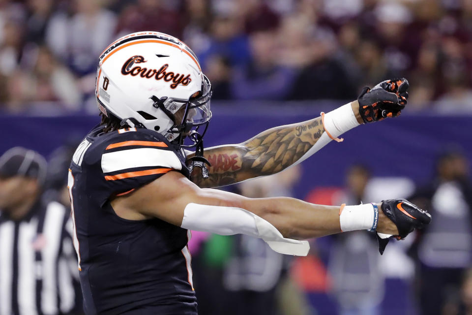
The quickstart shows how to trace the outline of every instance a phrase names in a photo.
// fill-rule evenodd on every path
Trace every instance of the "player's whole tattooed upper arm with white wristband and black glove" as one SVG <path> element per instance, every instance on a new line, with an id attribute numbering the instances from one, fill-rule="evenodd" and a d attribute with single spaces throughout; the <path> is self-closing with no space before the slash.
<path id="1" fill-rule="evenodd" d="M 195 170 L 191 179 L 200 187 L 219 187 L 277 173 L 355 126 L 399 116 L 407 102 L 407 89 L 406 79 L 383 81 L 372 90 L 364 88 L 357 100 L 326 113 L 324 119 L 278 126 L 237 145 L 208 148 L 208 178 Z"/>

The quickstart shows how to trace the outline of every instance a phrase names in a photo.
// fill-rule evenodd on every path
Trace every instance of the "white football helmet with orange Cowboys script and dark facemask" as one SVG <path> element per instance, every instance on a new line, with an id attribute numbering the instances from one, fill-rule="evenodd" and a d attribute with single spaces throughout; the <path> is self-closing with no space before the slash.
<path id="1" fill-rule="evenodd" d="M 160 32 L 128 34 L 107 47 L 95 94 L 104 115 L 156 130 L 178 145 L 185 136 L 193 141 L 190 146 L 200 142 L 211 118 L 211 85 L 197 57 L 182 41 Z"/>

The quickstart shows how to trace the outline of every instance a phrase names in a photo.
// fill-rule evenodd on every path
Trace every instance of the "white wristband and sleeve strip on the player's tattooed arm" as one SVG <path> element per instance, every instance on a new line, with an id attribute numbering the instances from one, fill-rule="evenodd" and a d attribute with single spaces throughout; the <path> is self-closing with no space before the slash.
<path id="1" fill-rule="evenodd" d="M 337 137 L 342 133 L 359 126 L 355 118 L 351 103 L 347 103 L 339 108 L 336 108 L 329 113 L 324 115 L 324 128 L 327 130 L 333 137 Z M 331 138 L 327 135 L 326 132 L 323 132 L 320 139 L 310 148 L 301 158 L 295 161 L 293 165 L 301 163 L 305 159 L 311 157 L 318 150 L 323 148 L 331 141 Z"/>

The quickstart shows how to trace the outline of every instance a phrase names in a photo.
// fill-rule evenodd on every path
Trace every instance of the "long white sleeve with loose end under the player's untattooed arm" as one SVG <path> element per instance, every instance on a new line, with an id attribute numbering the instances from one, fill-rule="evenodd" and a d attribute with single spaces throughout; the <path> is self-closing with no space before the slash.
<path id="1" fill-rule="evenodd" d="M 246 234 L 266 241 L 275 252 L 306 256 L 307 241 L 284 238 L 268 221 L 241 208 L 189 203 L 184 210 L 181 227 L 220 235 Z"/>

